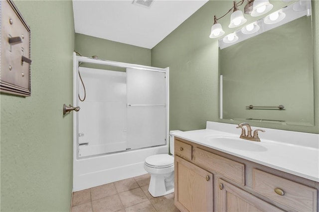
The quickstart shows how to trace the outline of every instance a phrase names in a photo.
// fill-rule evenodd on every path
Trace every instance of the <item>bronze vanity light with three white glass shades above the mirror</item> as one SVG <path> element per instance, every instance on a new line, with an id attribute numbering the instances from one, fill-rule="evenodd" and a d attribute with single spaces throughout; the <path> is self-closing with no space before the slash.
<path id="1" fill-rule="evenodd" d="M 269 3 L 269 0 L 241 0 L 239 2 L 233 1 L 233 7 L 231 7 L 223 16 L 217 18 L 216 15 L 214 15 L 214 24 L 211 27 L 211 32 L 209 35 L 210 38 L 217 38 L 225 33 L 222 29 L 221 24 L 218 23 L 217 20 L 225 17 L 231 11 L 233 11 L 233 13 L 230 16 L 230 23 L 228 25 L 229 28 L 235 28 L 246 23 L 247 19 L 244 17 L 243 12 L 238 9 L 238 6 L 241 6 L 245 1 L 247 1 L 248 3 L 245 5 L 244 11 L 246 14 L 251 14 L 251 16 L 263 15 L 273 8 L 273 4 Z M 258 25 L 256 27 L 258 27 Z M 258 31 L 258 29 L 256 31 Z"/>

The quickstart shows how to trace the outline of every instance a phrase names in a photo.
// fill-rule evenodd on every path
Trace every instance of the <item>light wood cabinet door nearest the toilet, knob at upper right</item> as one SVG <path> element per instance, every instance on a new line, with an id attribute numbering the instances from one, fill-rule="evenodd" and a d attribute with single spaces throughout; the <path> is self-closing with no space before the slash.
<path id="1" fill-rule="evenodd" d="M 175 206 L 182 212 L 213 211 L 213 175 L 175 156 Z"/>

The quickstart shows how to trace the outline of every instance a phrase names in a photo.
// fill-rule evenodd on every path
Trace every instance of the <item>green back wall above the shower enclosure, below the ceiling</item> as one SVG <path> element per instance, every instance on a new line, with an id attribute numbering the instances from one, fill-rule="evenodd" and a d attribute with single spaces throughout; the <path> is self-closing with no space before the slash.
<path id="1" fill-rule="evenodd" d="M 75 51 L 82 56 L 151 66 L 151 49 L 75 33 Z M 83 67 L 121 70 L 114 67 L 82 64 Z M 123 69 L 122 71 L 125 71 Z"/>

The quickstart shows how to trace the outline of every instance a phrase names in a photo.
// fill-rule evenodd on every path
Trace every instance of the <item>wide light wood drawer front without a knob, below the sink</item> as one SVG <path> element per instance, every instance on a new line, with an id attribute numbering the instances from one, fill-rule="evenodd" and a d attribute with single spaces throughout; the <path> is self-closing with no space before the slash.
<path id="1" fill-rule="evenodd" d="M 224 158 L 214 153 L 195 148 L 195 161 L 208 170 L 216 171 L 224 177 L 245 185 L 245 164 Z"/>

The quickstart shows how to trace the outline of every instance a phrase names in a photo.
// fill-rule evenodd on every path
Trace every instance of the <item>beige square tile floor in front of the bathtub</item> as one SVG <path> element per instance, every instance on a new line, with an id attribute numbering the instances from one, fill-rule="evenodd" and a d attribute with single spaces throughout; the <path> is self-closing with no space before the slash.
<path id="1" fill-rule="evenodd" d="M 150 174 L 74 192 L 71 212 L 179 212 L 174 193 L 154 198 Z"/>

